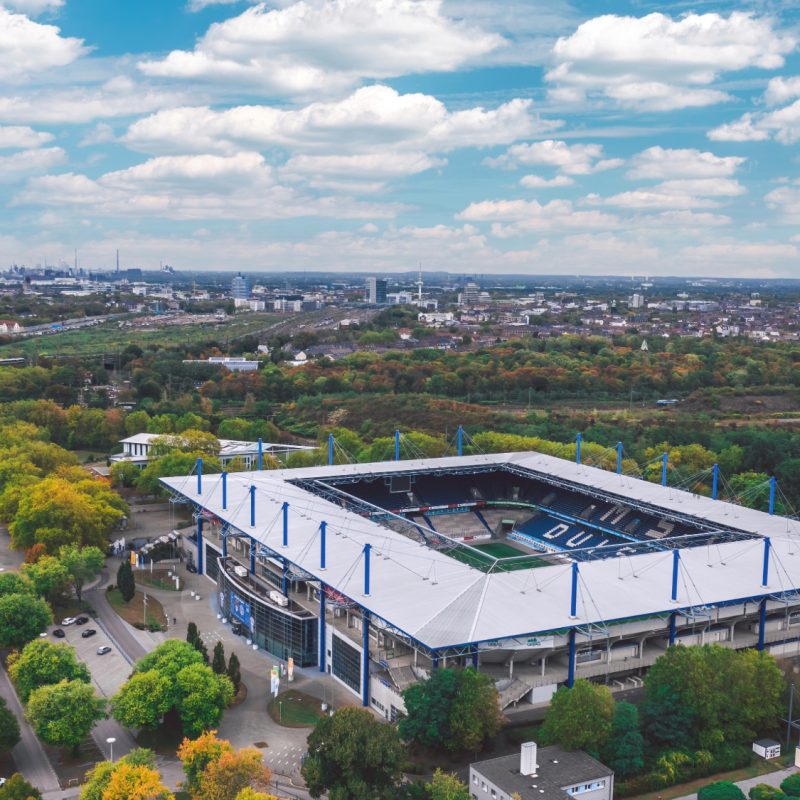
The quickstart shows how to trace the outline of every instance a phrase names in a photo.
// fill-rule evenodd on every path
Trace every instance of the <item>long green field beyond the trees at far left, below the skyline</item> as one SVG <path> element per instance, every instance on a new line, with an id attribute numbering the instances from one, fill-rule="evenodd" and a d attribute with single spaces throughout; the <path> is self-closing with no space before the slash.
<path id="1" fill-rule="evenodd" d="M 227 344 L 233 339 L 258 333 L 286 317 L 278 314 L 243 314 L 225 322 L 207 322 L 197 325 L 161 325 L 145 328 L 119 326 L 119 321 L 106 322 L 94 328 L 48 333 L 0 345 L 4 358 L 25 356 L 100 355 L 124 350 L 129 344 L 139 347 L 157 344 L 161 347 L 190 345 L 215 340 Z"/>

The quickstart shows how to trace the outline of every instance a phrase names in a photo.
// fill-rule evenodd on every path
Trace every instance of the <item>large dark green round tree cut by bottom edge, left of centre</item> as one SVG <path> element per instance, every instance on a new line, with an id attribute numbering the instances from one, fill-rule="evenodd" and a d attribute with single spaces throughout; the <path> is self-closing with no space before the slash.
<path id="1" fill-rule="evenodd" d="M 393 728 L 366 709 L 340 708 L 311 732 L 301 771 L 312 797 L 384 800 L 400 779 L 403 758 Z"/>

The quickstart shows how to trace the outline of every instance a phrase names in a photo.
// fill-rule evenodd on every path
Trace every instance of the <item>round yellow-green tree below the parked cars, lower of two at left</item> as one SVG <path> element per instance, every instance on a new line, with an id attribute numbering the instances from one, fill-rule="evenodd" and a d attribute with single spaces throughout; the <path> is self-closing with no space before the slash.
<path id="1" fill-rule="evenodd" d="M 105 718 L 105 705 L 88 683 L 60 681 L 31 692 L 28 719 L 43 742 L 69 745 L 77 754 L 94 723 Z"/>

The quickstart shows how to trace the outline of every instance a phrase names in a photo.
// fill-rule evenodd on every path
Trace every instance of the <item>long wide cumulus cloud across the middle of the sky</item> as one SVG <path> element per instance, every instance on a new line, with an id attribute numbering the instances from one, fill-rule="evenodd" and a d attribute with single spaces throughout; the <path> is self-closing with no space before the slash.
<path id="1" fill-rule="evenodd" d="M 439 154 L 509 144 L 541 127 L 530 100 L 449 111 L 430 95 L 374 85 L 297 109 L 166 109 L 133 123 L 122 140 L 148 153 L 287 152 L 287 175 L 314 176 L 318 185 L 367 178 L 362 190 L 375 191 L 387 179 L 443 166 Z"/>

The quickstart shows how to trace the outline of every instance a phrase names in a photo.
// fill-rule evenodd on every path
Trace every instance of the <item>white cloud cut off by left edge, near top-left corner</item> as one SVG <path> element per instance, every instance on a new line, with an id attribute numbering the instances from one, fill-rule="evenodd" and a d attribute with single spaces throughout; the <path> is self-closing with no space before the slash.
<path id="1" fill-rule="evenodd" d="M 65 38 L 55 25 L 0 6 L 0 81 L 20 81 L 66 66 L 86 52 L 82 39 Z"/>

